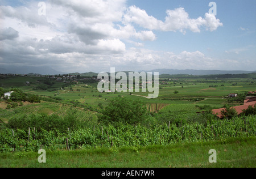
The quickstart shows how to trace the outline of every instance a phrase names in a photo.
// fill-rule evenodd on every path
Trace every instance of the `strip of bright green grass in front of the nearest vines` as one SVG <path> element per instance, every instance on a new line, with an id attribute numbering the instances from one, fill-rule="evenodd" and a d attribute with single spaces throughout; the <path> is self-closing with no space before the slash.
<path id="1" fill-rule="evenodd" d="M 46 151 L 46 163 L 37 152 L 0 154 L 1 168 L 254 168 L 255 137 L 170 146 L 96 148 Z M 209 150 L 217 151 L 217 163 L 209 163 Z"/>

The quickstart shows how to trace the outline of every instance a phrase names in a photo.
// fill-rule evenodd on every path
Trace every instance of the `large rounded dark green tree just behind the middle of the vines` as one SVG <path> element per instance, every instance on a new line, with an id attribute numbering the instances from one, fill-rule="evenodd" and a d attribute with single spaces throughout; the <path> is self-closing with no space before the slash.
<path id="1" fill-rule="evenodd" d="M 135 125 L 147 119 L 147 108 L 141 101 L 117 97 L 106 106 L 99 116 L 99 122 L 129 123 Z"/>

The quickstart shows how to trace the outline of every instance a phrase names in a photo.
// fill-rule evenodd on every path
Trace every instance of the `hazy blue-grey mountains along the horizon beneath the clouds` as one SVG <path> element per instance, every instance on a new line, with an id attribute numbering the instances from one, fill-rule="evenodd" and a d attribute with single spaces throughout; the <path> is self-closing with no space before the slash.
<path id="1" fill-rule="evenodd" d="M 175 69 L 156 69 L 156 70 L 145 70 L 145 72 L 159 72 L 159 75 L 169 74 L 186 74 L 186 75 L 222 75 L 222 74 L 249 74 L 256 73 L 256 71 L 241 71 L 241 70 L 175 70 Z M 68 74 L 61 71 L 52 69 L 51 67 L 1 67 L 0 74 L 41 74 L 41 75 L 59 75 Z M 127 72 L 126 72 L 127 73 Z M 97 76 L 98 73 L 71 73 L 71 75 L 80 76 Z"/>

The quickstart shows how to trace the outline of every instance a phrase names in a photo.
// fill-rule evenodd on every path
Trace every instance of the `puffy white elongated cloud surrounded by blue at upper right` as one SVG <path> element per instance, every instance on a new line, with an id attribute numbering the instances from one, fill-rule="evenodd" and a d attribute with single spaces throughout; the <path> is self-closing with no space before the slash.
<path id="1" fill-rule="evenodd" d="M 154 16 L 149 16 L 146 11 L 139 7 L 130 6 L 127 14 L 124 15 L 123 21 L 125 23 L 135 23 L 150 30 L 174 32 L 185 32 L 186 29 L 192 32 L 200 32 L 202 27 L 205 27 L 208 31 L 215 31 L 223 25 L 220 19 L 216 19 L 216 16 L 208 13 L 205 14 L 205 18 L 191 19 L 183 7 L 167 10 L 166 13 L 167 16 L 163 22 L 154 18 Z"/>

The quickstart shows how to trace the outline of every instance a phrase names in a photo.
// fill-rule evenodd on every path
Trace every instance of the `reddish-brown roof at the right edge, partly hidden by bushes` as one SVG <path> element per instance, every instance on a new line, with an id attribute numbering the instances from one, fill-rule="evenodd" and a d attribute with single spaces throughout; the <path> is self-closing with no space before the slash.
<path id="1" fill-rule="evenodd" d="M 251 96 L 251 97 L 246 97 L 243 105 L 241 106 L 234 106 L 233 108 L 236 109 L 238 114 L 241 114 L 243 110 L 248 109 L 249 106 L 254 106 L 256 104 L 256 97 Z M 213 109 L 212 112 L 213 114 L 216 114 L 219 118 L 222 118 L 221 111 L 224 110 L 225 108 L 221 109 Z"/>

